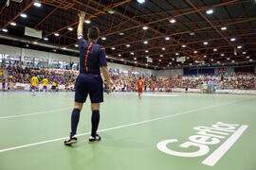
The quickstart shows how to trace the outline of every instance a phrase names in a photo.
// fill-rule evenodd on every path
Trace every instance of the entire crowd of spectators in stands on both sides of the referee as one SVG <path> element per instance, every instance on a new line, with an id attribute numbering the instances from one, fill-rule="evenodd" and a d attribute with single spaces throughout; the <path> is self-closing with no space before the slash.
<path id="1" fill-rule="evenodd" d="M 38 76 L 39 81 L 44 77 L 48 83 L 75 84 L 76 74 L 70 72 L 56 73 L 51 69 L 20 65 L 1 65 L 0 77 L 8 79 L 12 83 L 30 83 L 32 76 Z M 120 74 L 110 72 L 114 91 L 137 91 L 138 75 Z M 203 84 L 214 84 L 217 89 L 230 90 L 256 90 L 256 76 L 253 74 L 239 74 L 233 76 L 142 76 L 145 82 L 144 90 L 151 90 L 152 84 L 158 91 L 172 91 L 174 88 L 200 89 Z"/>

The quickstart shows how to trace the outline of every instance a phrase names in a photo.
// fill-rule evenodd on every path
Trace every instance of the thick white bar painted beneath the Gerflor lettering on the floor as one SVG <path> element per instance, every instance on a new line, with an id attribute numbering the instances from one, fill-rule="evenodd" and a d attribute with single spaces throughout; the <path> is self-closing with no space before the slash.
<path id="1" fill-rule="evenodd" d="M 212 152 L 210 156 L 202 162 L 202 164 L 214 166 L 214 164 L 219 161 L 226 154 L 226 152 L 229 151 L 229 148 L 233 144 L 235 144 L 235 142 L 240 138 L 240 136 L 244 133 L 247 127 L 248 126 L 244 125 L 238 128 L 238 130 L 236 130 L 225 143 L 221 144 L 219 148 Z"/>

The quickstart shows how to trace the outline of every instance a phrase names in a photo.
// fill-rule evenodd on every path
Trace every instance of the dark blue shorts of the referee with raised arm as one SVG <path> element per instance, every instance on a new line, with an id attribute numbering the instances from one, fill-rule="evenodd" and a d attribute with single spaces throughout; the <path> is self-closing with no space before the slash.
<path id="1" fill-rule="evenodd" d="M 91 103 L 103 102 L 103 84 L 100 75 L 80 74 L 76 82 L 75 102 L 84 103 L 87 95 Z"/>

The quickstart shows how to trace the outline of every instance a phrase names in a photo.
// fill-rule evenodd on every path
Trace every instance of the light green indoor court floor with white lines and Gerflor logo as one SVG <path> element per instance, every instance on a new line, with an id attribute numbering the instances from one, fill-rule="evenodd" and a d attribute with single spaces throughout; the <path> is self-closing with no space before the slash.
<path id="1" fill-rule="evenodd" d="M 144 94 L 105 95 L 98 144 L 86 103 L 68 147 L 74 93 L 0 93 L 0 170 L 256 169 L 256 96 Z"/>

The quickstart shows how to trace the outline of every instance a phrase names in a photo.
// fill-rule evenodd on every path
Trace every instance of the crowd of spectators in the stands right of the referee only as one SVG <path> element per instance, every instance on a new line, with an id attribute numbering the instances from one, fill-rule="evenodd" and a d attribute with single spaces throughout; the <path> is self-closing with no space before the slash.
<path id="1" fill-rule="evenodd" d="M 121 74 L 111 75 L 116 89 L 127 87 L 127 91 L 136 90 L 138 76 Z M 200 89 L 203 85 L 214 85 L 217 89 L 256 90 L 256 76 L 239 74 L 233 76 L 142 76 L 145 90 L 151 89 L 155 83 L 159 91 L 170 92 L 174 88 Z"/>

